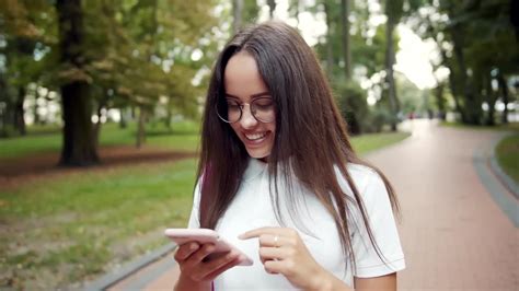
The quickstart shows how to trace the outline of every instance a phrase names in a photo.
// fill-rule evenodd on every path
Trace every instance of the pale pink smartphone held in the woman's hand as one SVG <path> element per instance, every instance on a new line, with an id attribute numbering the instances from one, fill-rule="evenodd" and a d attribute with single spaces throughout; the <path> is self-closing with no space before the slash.
<path id="1" fill-rule="evenodd" d="M 242 257 L 239 266 L 252 266 L 253 260 L 241 252 L 238 247 L 233 246 L 226 240 L 223 240 L 218 232 L 209 229 L 166 229 L 164 231 L 165 236 L 170 237 L 173 242 L 178 245 L 197 242 L 199 244 L 212 243 L 216 246 L 215 255 L 218 256 L 219 253 L 227 253 L 234 249 L 234 252 L 240 254 Z M 209 258 L 210 259 L 210 258 Z"/>

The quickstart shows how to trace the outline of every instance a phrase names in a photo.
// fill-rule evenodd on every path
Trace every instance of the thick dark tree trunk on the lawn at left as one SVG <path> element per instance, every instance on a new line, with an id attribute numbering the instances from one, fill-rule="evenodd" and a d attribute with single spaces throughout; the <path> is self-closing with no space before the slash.
<path id="1" fill-rule="evenodd" d="M 85 65 L 82 51 L 83 19 L 81 0 L 57 0 L 59 47 L 62 63 L 79 71 Z M 60 165 L 85 166 L 99 163 L 92 130 L 92 101 L 85 80 L 73 80 L 61 85 L 64 144 Z"/>

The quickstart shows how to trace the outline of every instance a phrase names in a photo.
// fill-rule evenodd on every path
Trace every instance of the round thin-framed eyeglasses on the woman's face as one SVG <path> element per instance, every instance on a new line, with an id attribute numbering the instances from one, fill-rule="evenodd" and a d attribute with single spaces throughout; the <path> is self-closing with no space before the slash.
<path id="1" fill-rule="evenodd" d="M 238 123 L 242 118 L 245 105 L 257 121 L 268 124 L 276 119 L 274 101 L 269 97 L 255 98 L 251 103 L 226 98 L 217 104 L 218 117 L 228 124 Z"/>

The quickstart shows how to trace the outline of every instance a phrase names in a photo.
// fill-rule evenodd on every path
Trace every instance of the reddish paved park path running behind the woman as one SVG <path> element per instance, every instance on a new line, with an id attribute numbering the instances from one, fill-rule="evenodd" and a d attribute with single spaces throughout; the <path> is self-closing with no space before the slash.
<path id="1" fill-rule="evenodd" d="M 519 290 L 519 229 L 474 163 L 474 153 L 488 154 L 504 133 L 429 120 L 405 127 L 413 132 L 408 139 L 367 156 L 393 183 L 402 207 L 407 268 L 399 273 L 399 290 Z M 519 211 L 517 199 L 499 187 Z M 176 278 L 170 254 L 109 290 L 171 290 Z"/>

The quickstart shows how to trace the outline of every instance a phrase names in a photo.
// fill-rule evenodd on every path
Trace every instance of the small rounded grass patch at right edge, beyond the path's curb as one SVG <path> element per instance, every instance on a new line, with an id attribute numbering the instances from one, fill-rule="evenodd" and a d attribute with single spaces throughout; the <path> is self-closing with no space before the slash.
<path id="1" fill-rule="evenodd" d="M 496 158 L 503 171 L 519 183 L 519 135 L 500 140 L 496 147 Z"/>

